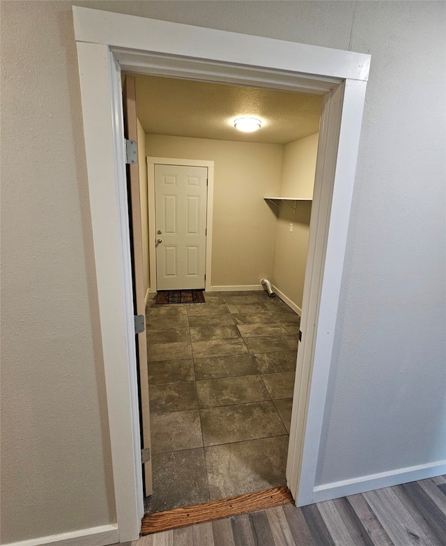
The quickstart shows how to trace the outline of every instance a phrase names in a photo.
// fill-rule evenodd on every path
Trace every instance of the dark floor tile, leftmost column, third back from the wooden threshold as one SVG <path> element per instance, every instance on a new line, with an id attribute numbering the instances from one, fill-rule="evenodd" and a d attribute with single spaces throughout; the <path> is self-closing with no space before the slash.
<path id="1" fill-rule="evenodd" d="M 195 381 L 150 385 L 148 395 L 153 415 L 198 408 Z"/>

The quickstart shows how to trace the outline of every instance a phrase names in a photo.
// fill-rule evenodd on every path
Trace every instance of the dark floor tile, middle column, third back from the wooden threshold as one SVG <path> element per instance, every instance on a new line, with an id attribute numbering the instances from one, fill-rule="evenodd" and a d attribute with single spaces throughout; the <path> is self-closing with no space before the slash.
<path id="1" fill-rule="evenodd" d="M 201 408 L 270 400 L 259 375 L 197 381 L 197 395 Z"/>

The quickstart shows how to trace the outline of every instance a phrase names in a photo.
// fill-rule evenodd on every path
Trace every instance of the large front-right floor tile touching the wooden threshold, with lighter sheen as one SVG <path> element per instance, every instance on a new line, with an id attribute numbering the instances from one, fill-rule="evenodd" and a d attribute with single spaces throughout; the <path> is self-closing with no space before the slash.
<path id="1" fill-rule="evenodd" d="M 286 485 L 288 441 L 286 435 L 204 448 L 210 499 Z"/>

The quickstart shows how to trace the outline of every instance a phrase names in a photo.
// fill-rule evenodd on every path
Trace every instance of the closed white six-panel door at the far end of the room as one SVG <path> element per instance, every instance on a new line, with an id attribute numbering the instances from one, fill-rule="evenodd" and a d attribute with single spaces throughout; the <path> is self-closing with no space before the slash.
<path id="1" fill-rule="evenodd" d="M 207 167 L 155 165 L 157 290 L 203 289 Z"/>

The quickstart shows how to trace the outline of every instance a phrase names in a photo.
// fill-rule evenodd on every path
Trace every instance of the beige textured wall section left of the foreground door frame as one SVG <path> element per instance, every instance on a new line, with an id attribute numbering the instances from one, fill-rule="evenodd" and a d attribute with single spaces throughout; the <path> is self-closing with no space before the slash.
<path id="1" fill-rule="evenodd" d="M 1 544 L 116 521 L 68 3 L 1 2 Z"/>

